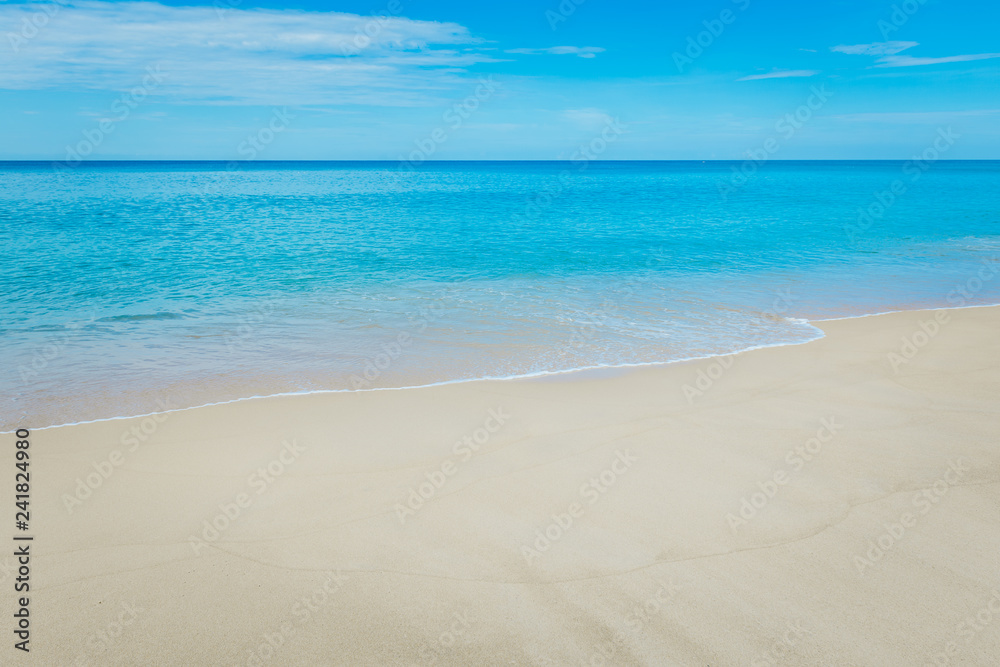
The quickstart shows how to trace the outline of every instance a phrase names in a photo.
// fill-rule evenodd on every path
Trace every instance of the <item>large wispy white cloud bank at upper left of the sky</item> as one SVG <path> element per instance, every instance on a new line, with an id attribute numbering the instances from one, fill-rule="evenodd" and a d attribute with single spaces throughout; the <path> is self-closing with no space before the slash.
<path id="1" fill-rule="evenodd" d="M 475 85 L 466 68 L 493 60 L 455 23 L 155 2 L 46 6 L 55 8 L 47 22 L 21 39 L 25 20 L 46 16 L 41 5 L 0 5 L 0 24 L 18 37 L 0 47 L 0 88 L 127 90 L 158 65 L 166 78 L 155 94 L 181 101 L 412 105 Z"/>

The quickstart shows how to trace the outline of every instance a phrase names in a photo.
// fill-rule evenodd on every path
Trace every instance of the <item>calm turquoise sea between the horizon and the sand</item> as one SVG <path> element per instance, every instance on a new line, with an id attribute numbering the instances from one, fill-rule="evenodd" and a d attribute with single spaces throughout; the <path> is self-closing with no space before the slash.
<path id="1" fill-rule="evenodd" d="M 0 163 L 0 430 L 1000 303 L 1000 162 L 738 167 Z"/>

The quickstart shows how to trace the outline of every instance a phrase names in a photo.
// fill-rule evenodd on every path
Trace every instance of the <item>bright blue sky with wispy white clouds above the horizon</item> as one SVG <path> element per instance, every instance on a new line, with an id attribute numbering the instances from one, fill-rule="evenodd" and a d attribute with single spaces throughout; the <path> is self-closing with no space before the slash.
<path id="1" fill-rule="evenodd" d="M 0 159 L 1000 159 L 995 0 L 0 0 Z"/>

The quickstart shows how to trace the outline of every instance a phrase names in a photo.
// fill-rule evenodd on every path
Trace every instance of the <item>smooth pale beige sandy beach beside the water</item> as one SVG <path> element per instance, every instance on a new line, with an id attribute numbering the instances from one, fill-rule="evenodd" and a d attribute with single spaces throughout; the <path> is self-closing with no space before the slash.
<path id="1" fill-rule="evenodd" d="M 32 430 L 31 663 L 995 664 L 1000 308 L 816 326 Z"/>

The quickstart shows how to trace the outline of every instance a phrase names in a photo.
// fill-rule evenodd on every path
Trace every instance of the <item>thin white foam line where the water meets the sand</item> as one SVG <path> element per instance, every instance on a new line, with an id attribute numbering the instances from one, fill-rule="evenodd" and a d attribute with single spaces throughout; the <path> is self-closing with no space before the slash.
<path id="1" fill-rule="evenodd" d="M 703 361 L 703 360 L 707 360 L 707 359 L 718 359 L 718 358 L 722 358 L 722 357 L 730 357 L 730 356 L 734 356 L 734 355 L 744 354 L 746 352 L 752 352 L 754 350 L 764 350 L 764 349 L 771 349 L 771 348 L 781 348 L 781 347 L 790 347 L 790 346 L 797 346 L 797 345 L 806 345 L 808 343 L 813 343 L 815 341 L 822 340 L 823 338 L 826 337 L 826 334 L 823 332 L 823 330 L 816 326 L 816 323 L 821 323 L 821 322 L 840 322 L 840 321 L 844 321 L 844 320 L 864 319 L 864 318 L 868 318 L 868 317 L 881 317 L 881 316 L 884 316 L 884 315 L 891 315 L 891 314 L 894 314 L 894 313 L 919 313 L 919 312 L 934 312 L 934 311 L 939 311 L 939 310 L 964 310 L 966 308 L 1000 308 L 1000 304 L 976 304 L 976 305 L 965 305 L 965 306 L 945 306 L 945 307 L 941 307 L 941 308 L 915 308 L 915 309 L 905 309 L 905 310 L 887 310 L 887 311 L 881 311 L 881 312 L 877 312 L 877 313 L 865 313 L 865 314 L 862 314 L 862 315 L 849 315 L 849 316 L 846 316 L 846 317 L 831 317 L 831 318 L 814 319 L 814 320 L 807 320 L 807 319 L 796 318 L 796 317 L 783 317 L 783 319 L 786 319 L 786 320 L 795 321 L 795 322 L 802 323 L 802 324 L 807 324 L 810 327 L 812 327 L 814 330 L 816 330 L 818 332 L 818 334 L 816 336 L 814 336 L 813 338 L 809 338 L 809 339 L 802 340 L 802 341 L 793 341 L 793 342 L 785 342 L 785 343 L 770 343 L 770 344 L 765 344 L 765 345 L 754 345 L 754 346 L 750 346 L 750 347 L 746 347 L 746 348 L 740 348 L 740 349 L 737 349 L 737 350 L 734 350 L 734 351 L 731 351 L 731 352 L 720 352 L 720 353 L 717 353 L 717 354 L 708 354 L 708 355 L 703 355 L 703 356 L 698 356 L 698 357 L 685 357 L 683 359 L 671 359 L 669 361 L 650 361 L 650 362 L 629 363 L 629 364 L 584 366 L 584 367 L 581 367 L 581 368 L 568 368 L 568 369 L 556 370 L 556 371 L 538 371 L 538 372 L 535 372 L 535 373 L 526 373 L 526 374 L 522 374 L 522 375 L 510 375 L 510 376 L 504 376 L 504 377 L 459 378 L 459 379 L 454 379 L 454 380 L 442 380 L 440 382 L 431 382 L 431 383 L 428 383 L 428 384 L 419 384 L 419 385 L 407 385 L 407 386 L 402 386 L 402 387 L 371 387 L 371 388 L 367 388 L 367 389 L 313 389 L 313 390 L 308 390 L 308 391 L 278 392 L 278 393 L 275 393 L 275 394 L 242 396 L 242 397 L 239 397 L 239 398 L 228 399 L 228 400 L 225 400 L 225 401 L 214 401 L 214 402 L 211 402 L 211 403 L 200 403 L 198 405 L 191 405 L 191 406 L 187 406 L 187 407 L 174 408 L 172 410 L 162 410 L 160 412 L 146 412 L 146 413 L 135 414 L 135 415 L 115 415 L 113 417 L 100 417 L 98 419 L 86 419 L 86 420 L 77 421 L 77 422 L 67 422 L 67 423 L 64 423 L 64 424 L 52 424 L 52 425 L 49 425 L 49 426 L 37 426 L 37 427 L 32 427 L 30 430 L 32 430 L 32 431 L 44 431 L 44 430 L 50 430 L 50 429 L 67 428 L 67 427 L 72 427 L 72 426 L 81 426 L 81 425 L 85 425 L 85 424 L 99 424 L 99 423 L 102 423 L 102 422 L 109 422 L 109 421 L 124 421 L 124 420 L 129 420 L 129 419 L 142 419 L 144 417 L 153 417 L 153 416 L 156 416 L 156 415 L 173 414 L 173 413 L 176 413 L 176 412 L 186 412 L 188 410 L 198 410 L 198 409 L 201 409 L 201 408 L 209 408 L 209 407 L 214 407 L 214 406 L 219 406 L 219 405 L 230 405 L 230 404 L 234 404 L 234 403 L 243 403 L 243 402 L 246 402 L 246 401 L 257 401 L 257 400 L 264 400 L 264 399 L 270 399 L 270 398 L 284 398 L 284 397 L 290 397 L 290 396 L 314 396 L 314 395 L 325 395 L 325 394 L 365 393 L 365 392 L 376 392 L 376 391 L 402 391 L 402 390 L 407 390 L 407 389 L 425 389 L 425 388 L 428 388 L 428 387 L 440 387 L 440 386 L 447 386 L 447 385 L 453 385 L 453 384 L 465 384 L 465 383 L 473 383 L 473 382 L 509 382 L 509 381 L 514 381 L 514 380 L 533 380 L 533 379 L 549 378 L 549 377 L 556 377 L 556 376 L 560 376 L 560 375 L 569 375 L 569 374 L 584 374 L 584 373 L 599 374 L 599 373 L 602 373 L 602 372 L 611 372 L 611 371 L 618 371 L 618 370 L 622 370 L 622 371 L 628 372 L 629 370 L 638 370 L 638 369 L 642 369 L 642 368 L 656 368 L 656 367 L 662 367 L 662 366 L 670 366 L 670 365 L 673 365 L 673 364 L 686 364 L 686 363 L 692 363 L 692 362 L 697 362 L 697 361 Z M 14 433 L 14 431 L 0 431 L 0 435 L 9 435 L 11 433 Z"/>

